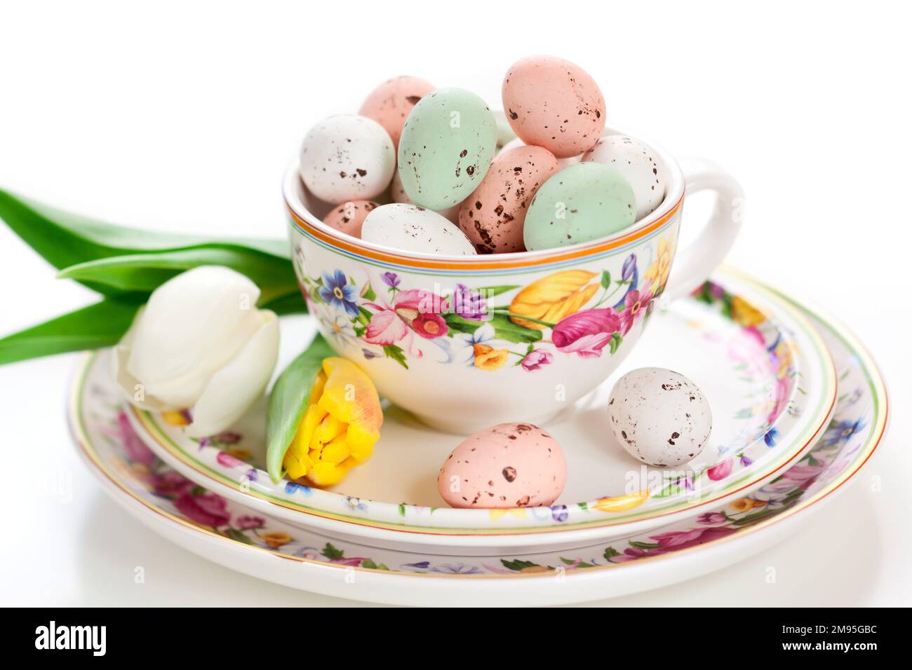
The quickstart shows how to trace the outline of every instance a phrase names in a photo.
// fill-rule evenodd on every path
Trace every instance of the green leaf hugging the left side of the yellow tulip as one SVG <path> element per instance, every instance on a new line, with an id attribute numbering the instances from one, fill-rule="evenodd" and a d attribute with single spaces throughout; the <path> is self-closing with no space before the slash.
<path id="1" fill-rule="evenodd" d="M 282 479 L 285 452 L 304 417 L 323 359 L 328 356 L 336 353 L 321 335 L 316 335 L 306 351 L 275 380 L 266 410 L 266 471 L 274 483 Z"/>

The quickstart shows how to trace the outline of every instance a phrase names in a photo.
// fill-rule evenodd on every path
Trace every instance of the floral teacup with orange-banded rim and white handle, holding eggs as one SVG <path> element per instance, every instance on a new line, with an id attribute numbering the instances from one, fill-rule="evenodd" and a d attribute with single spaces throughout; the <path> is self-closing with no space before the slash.
<path id="1" fill-rule="evenodd" d="M 685 177 L 657 149 L 665 199 L 633 229 L 537 252 L 405 253 L 321 222 L 292 166 L 285 178 L 295 272 L 320 332 L 381 395 L 435 428 L 466 434 L 544 423 L 605 381 L 660 300 L 703 283 L 734 242 L 741 188 L 695 162 Z M 716 191 L 710 222 L 672 261 L 685 186 Z"/>

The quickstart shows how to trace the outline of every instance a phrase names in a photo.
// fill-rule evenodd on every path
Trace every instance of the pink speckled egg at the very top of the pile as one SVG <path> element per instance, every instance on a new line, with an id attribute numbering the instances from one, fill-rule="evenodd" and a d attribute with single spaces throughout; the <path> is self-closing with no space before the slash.
<path id="1" fill-rule="evenodd" d="M 516 135 L 559 159 L 592 149 L 605 129 L 605 98 L 595 79 L 563 58 L 517 61 L 503 78 L 502 94 Z"/>

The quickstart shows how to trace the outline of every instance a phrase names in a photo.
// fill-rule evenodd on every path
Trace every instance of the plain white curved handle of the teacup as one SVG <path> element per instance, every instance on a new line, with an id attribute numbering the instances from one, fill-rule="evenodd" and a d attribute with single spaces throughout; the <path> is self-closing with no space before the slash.
<path id="1" fill-rule="evenodd" d="M 741 230 L 744 192 L 731 175 L 709 160 L 690 159 L 681 165 L 685 196 L 716 191 L 709 222 L 687 249 L 676 254 L 665 296 L 669 301 L 690 294 L 710 278 Z"/>

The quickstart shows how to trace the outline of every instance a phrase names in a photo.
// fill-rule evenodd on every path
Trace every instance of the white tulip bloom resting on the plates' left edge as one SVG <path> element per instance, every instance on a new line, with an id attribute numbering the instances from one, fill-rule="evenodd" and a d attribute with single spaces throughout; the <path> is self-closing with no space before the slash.
<path id="1" fill-rule="evenodd" d="M 191 409 L 187 435 L 229 428 L 260 397 L 278 357 L 278 319 L 256 309 L 260 289 L 204 265 L 162 283 L 114 347 L 114 378 L 153 412 Z"/>

